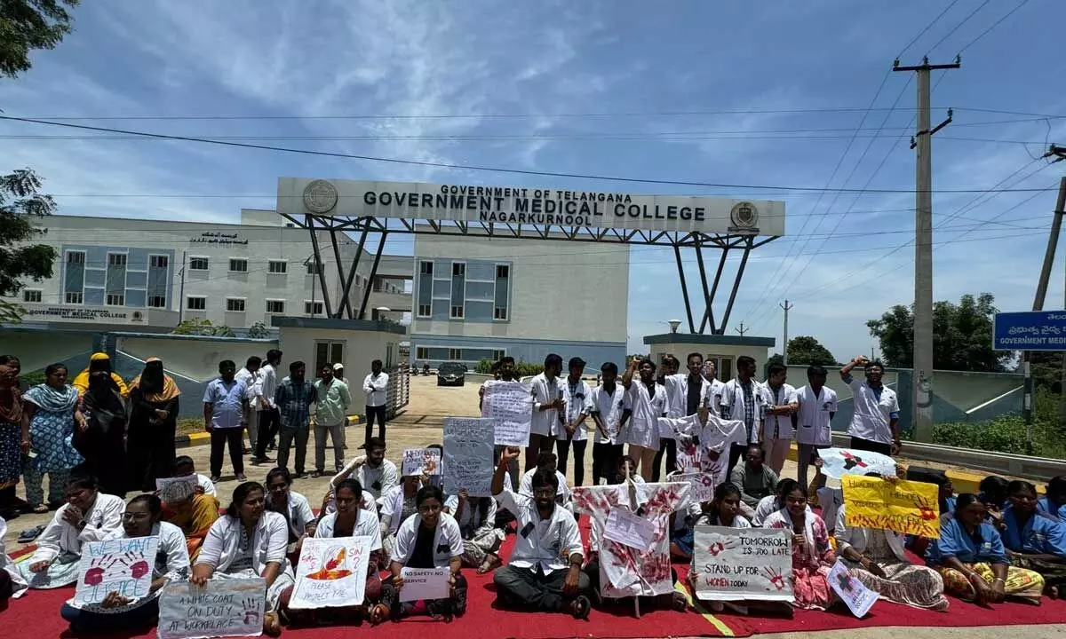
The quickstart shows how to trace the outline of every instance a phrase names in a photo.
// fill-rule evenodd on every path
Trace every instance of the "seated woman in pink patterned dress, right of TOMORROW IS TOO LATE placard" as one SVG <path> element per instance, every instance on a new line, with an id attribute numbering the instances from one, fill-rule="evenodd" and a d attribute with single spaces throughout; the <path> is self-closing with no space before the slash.
<path id="1" fill-rule="evenodd" d="M 807 493 L 794 479 L 781 488 L 785 496 L 780 510 L 763 522 L 763 528 L 784 528 L 792 532 L 792 592 L 796 608 L 825 610 L 835 595 L 827 581 L 829 568 L 837 558 L 829 545 L 825 522 L 807 508 Z"/>

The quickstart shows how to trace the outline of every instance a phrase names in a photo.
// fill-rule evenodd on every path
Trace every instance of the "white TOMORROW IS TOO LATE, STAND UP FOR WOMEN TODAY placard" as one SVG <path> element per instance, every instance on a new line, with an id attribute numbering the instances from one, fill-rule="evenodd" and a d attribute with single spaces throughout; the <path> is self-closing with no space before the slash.
<path id="1" fill-rule="evenodd" d="M 693 541 L 696 599 L 793 601 L 788 530 L 696 526 Z"/>

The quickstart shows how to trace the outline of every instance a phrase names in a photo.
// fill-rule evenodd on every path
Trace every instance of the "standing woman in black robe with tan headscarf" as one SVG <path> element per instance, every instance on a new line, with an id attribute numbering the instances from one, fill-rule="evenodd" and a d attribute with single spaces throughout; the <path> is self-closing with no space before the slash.
<path id="1" fill-rule="evenodd" d="M 156 490 L 156 479 L 169 477 L 174 465 L 174 436 L 181 391 L 163 373 L 163 360 L 145 360 L 144 372 L 130 382 L 130 424 L 126 449 L 131 488 Z"/>

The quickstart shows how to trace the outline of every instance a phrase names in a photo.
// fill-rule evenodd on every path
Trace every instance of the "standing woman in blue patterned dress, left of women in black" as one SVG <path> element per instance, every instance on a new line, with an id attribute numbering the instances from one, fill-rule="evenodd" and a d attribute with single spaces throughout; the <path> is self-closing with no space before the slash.
<path id="1" fill-rule="evenodd" d="M 45 368 L 45 383 L 26 392 L 22 411 L 22 440 L 29 443 L 22 461 L 26 502 L 37 513 L 63 503 L 67 476 L 82 457 L 74 447 L 75 432 L 84 430 L 85 417 L 78 410 L 78 391 L 67 384 L 63 364 Z M 43 489 L 48 474 L 48 502 Z"/>

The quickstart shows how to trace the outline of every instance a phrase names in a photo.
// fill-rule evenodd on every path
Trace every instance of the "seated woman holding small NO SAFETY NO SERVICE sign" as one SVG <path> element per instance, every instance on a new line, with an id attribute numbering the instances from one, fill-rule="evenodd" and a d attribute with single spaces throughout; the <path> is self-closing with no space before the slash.
<path id="1" fill-rule="evenodd" d="M 385 579 L 395 595 L 392 600 L 392 619 L 410 615 L 416 602 L 400 603 L 404 568 L 448 568 L 448 599 L 425 602 L 426 611 L 434 619 L 450 621 L 466 612 L 467 583 L 463 576 L 463 537 L 459 525 L 452 515 L 443 512 L 445 493 L 436 486 L 424 486 L 416 497 L 418 512 L 407 518 L 397 532 L 390 574 Z"/>

